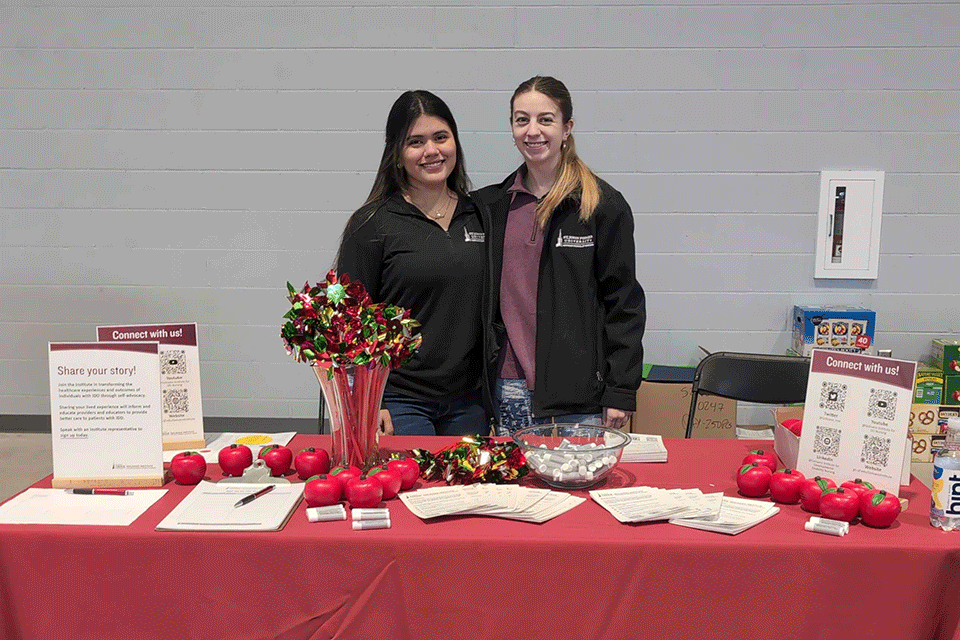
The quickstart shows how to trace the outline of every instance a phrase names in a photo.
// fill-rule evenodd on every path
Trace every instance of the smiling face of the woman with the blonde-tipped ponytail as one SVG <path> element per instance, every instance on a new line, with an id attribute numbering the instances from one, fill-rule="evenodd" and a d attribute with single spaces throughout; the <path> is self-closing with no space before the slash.
<path id="1" fill-rule="evenodd" d="M 521 93 L 510 114 L 513 141 L 528 165 L 554 168 L 560 164 L 563 141 L 573 129 L 573 120 L 563 122 L 556 102 L 540 93 Z"/>

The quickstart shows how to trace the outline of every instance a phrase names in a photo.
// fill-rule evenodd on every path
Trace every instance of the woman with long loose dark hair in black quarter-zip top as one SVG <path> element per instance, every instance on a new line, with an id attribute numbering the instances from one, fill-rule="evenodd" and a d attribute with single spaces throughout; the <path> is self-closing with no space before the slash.
<path id="1" fill-rule="evenodd" d="M 489 430 L 480 393 L 485 225 L 468 189 L 450 109 L 429 91 L 405 92 L 387 117 L 373 188 L 337 254 L 338 273 L 422 325 L 422 346 L 387 381 L 388 433 Z"/>

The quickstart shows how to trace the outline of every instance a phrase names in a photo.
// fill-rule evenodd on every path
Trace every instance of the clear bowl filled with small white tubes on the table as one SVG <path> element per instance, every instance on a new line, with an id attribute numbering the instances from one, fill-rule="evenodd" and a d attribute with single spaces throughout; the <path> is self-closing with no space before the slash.
<path id="1" fill-rule="evenodd" d="M 513 434 L 530 471 L 558 489 L 586 489 L 606 478 L 620 462 L 630 436 L 586 424 L 543 424 Z"/>

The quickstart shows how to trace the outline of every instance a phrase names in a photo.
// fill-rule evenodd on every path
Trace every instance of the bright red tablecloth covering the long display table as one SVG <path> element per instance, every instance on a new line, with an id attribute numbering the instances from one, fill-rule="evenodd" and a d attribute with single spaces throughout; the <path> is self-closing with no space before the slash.
<path id="1" fill-rule="evenodd" d="M 735 495 L 756 443 L 666 445 L 670 462 L 602 486 Z M 843 538 L 804 531 L 799 506 L 726 536 L 623 525 L 590 500 L 542 525 L 422 522 L 397 500 L 386 530 L 310 524 L 301 503 L 280 532 L 157 532 L 189 491 L 166 488 L 129 527 L 0 526 L 0 637 L 960 640 L 960 533 L 930 526 L 916 479 L 898 524 Z"/>

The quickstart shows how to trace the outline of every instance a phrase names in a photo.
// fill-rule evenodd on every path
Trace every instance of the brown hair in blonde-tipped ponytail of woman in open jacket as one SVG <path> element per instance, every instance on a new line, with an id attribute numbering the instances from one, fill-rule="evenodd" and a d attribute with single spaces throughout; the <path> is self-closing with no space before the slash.
<path id="1" fill-rule="evenodd" d="M 518 96 L 530 91 L 538 91 L 553 100 L 560 108 L 563 124 L 573 119 L 573 100 L 566 85 L 550 76 L 534 76 L 520 83 L 510 98 L 510 114 L 513 118 L 513 102 Z M 560 149 L 560 173 L 553 187 L 537 205 L 537 223 L 543 229 L 554 209 L 568 196 L 580 200 L 580 222 L 588 221 L 597 205 L 600 204 L 600 185 L 597 176 L 577 155 L 573 134 L 567 136 Z"/>

